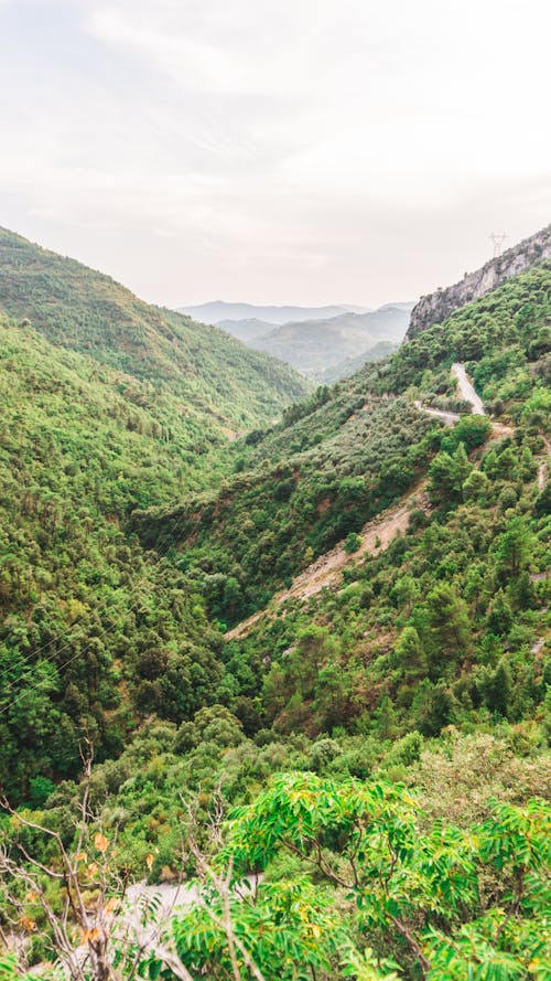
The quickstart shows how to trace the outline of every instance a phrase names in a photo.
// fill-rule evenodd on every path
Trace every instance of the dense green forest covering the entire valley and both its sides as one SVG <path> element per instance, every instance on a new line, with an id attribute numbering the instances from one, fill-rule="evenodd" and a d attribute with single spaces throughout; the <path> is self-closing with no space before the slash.
<path id="1" fill-rule="evenodd" d="M 177 414 L 164 342 L 122 369 L 93 305 L 87 346 L 96 274 L 48 258 L 50 320 L 19 242 L 0 937 L 25 945 L 0 979 L 549 978 L 551 264 L 302 402 L 244 351 L 271 401 L 233 403 L 235 375 L 224 440 L 192 387 Z"/>

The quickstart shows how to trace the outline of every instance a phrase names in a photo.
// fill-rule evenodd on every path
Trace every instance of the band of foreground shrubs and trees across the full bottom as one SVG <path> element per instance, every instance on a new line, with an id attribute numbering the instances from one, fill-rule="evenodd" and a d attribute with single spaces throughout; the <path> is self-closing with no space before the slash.
<path id="1" fill-rule="evenodd" d="M 1 860 L 3 909 L 18 910 L 35 958 L 48 957 L 53 920 L 61 939 L 52 950 L 78 978 L 548 977 L 551 810 L 527 797 L 534 786 L 544 792 L 549 754 L 532 744 L 520 763 L 518 733 L 506 731 L 451 732 L 425 749 L 418 735 L 389 743 L 377 772 L 360 780 L 346 771 L 346 738 L 333 751 L 327 739 L 255 751 L 222 708 L 203 710 L 194 728 L 201 743 L 187 753 L 182 733 L 153 725 L 123 763 L 99 767 L 77 797 L 82 814 L 93 801 L 101 817 L 80 818 L 76 831 L 68 787 L 52 801 L 47 833 L 40 814 L 13 812 Z M 151 757 L 153 747 L 160 755 Z M 210 767 L 217 759 L 218 786 L 204 766 L 201 792 L 182 795 L 199 756 Z M 292 769 L 267 779 L 274 759 Z M 116 793 L 114 767 L 120 779 L 121 766 L 140 760 L 141 779 L 127 779 Z M 475 761 L 486 766 L 484 777 Z M 409 788 L 398 782 L 400 765 Z M 255 772 L 267 780 L 260 793 Z M 159 800 L 162 780 L 172 792 Z M 234 795 L 252 800 L 220 824 Z M 196 876 L 181 896 L 184 907 L 166 910 L 154 888 L 143 887 L 128 905 L 129 877 L 170 878 L 170 866 L 159 865 L 168 856 Z M 251 873 L 261 876 L 252 886 Z M 15 970 L 7 960 L 4 977 Z"/>

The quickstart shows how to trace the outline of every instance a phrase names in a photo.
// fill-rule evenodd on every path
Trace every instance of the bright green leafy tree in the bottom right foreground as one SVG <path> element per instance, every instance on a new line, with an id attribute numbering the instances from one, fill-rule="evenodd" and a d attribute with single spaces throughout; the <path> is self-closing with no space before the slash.
<path id="1" fill-rule="evenodd" d="M 400 785 L 279 775 L 237 811 L 223 854 L 236 872 L 295 855 L 348 894 L 357 926 L 381 947 L 399 938 L 395 957 L 409 977 L 483 979 L 496 962 L 511 973 L 491 977 L 527 977 L 545 942 L 549 804 L 496 807 L 491 820 L 469 832 L 440 821 L 422 830 L 422 818 Z M 483 891 L 488 876 L 491 888 Z M 463 973 L 450 975 L 454 959 Z M 538 977 L 545 977 L 543 960 Z"/>

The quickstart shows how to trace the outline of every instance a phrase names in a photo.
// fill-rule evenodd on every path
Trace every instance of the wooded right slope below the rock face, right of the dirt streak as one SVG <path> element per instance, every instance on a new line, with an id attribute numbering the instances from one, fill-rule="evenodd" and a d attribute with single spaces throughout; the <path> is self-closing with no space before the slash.
<path id="1" fill-rule="evenodd" d="M 291 597 L 236 644 L 279 731 L 360 725 L 396 738 L 544 717 L 550 326 L 544 263 L 420 333 L 371 375 L 379 392 L 453 408 L 450 366 L 468 358 L 499 422 L 476 448 L 477 417 L 454 429 L 434 418 L 430 500 L 407 533 L 345 568 L 336 591 Z"/>

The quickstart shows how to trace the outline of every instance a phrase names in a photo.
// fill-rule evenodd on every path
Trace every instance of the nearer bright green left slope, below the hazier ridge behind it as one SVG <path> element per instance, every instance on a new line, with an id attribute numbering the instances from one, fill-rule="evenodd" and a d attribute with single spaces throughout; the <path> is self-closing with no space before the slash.
<path id="1" fill-rule="evenodd" d="M 223 674 L 202 598 L 128 535 L 126 519 L 137 505 L 220 480 L 224 452 L 202 452 L 201 425 L 174 416 L 170 399 L 143 401 L 142 388 L 0 320 L 7 789 L 37 772 L 74 771 L 85 733 L 100 757 L 118 753 L 143 707 L 140 684 L 160 665 L 163 714 L 174 718 L 214 697 Z"/>

